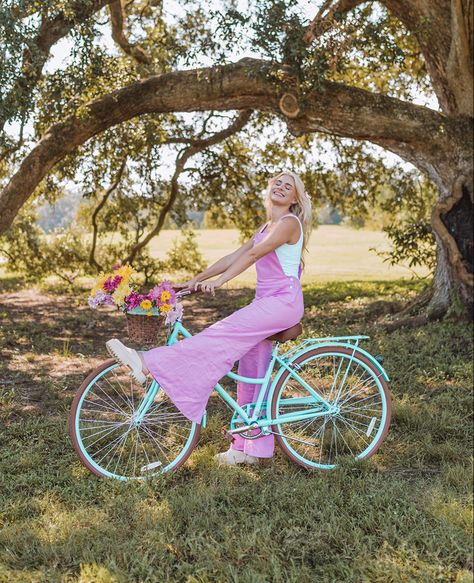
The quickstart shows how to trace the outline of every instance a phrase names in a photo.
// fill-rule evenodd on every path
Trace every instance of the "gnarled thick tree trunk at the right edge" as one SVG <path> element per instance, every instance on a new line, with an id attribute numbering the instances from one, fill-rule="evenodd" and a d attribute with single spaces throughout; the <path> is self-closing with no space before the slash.
<path id="1" fill-rule="evenodd" d="M 336 12 L 349 12 L 365 0 L 327 0 L 312 21 L 307 41 L 327 30 Z M 473 291 L 473 2 L 472 0 L 380 0 L 403 23 L 421 49 L 439 105 L 457 123 L 450 147 L 441 147 L 434 160 L 410 144 L 390 147 L 425 172 L 438 186 L 433 209 L 437 267 L 428 317 L 467 310 Z M 396 123 L 396 120 L 393 120 Z M 454 129 L 454 127 L 453 127 Z M 425 138 L 432 139 L 427 128 Z M 436 148 L 436 146 L 435 146 Z M 424 298 L 423 298 L 424 302 Z M 422 302 L 422 303 L 423 303 Z"/>

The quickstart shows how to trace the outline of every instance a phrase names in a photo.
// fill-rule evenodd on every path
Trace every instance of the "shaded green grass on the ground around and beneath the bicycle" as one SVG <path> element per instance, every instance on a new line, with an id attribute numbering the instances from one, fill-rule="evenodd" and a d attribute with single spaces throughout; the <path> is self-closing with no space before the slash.
<path id="1" fill-rule="evenodd" d="M 472 327 L 385 333 L 377 318 L 419 281 L 304 285 L 304 335 L 365 333 L 385 357 L 393 422 L 365 463 L 310 473 L 277 452 L 221 468 L 225 406 L 188 464 L 149 483 L 90 475 L 67 415 L 121 314 L 85 294 L 0 294 L 0 582 L 472 581 Z M 250 287 L 186 300 L 197 332 L 253 297 Z M 65 309 L 67 306 L 67 309 Z M 60 316 L 58 317 L 58 314 Z M 230 387 L 231 385 L 227 385 Z"/>

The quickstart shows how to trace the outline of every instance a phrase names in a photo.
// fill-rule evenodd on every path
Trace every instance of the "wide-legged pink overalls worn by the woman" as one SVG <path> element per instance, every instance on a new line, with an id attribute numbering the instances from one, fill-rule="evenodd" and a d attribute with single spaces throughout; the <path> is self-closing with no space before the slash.
<path id="1" fill-rule="evenodd" d="M 254 235 L 254 244 L 266 236 L 262 231 Z M 283 272 L 275 251 L 255 265 L 257 287 L 250 304 L 191 338 L 143 352 L 150 373 L 181 413 L 196 423 L 201 422 L 215 385 L 235 362 L 239 360 L 239 374 L 263 377 L 272 350 L 272 342 L 266 338 L 294 326 L 303 316 L 299 277 Z M 254 401 L 260 387 L 237 383 L 237 402 Z M 273 436 L 255 440 L 236 436 L 232 447 L 257 457 L 271 457 Z"/>

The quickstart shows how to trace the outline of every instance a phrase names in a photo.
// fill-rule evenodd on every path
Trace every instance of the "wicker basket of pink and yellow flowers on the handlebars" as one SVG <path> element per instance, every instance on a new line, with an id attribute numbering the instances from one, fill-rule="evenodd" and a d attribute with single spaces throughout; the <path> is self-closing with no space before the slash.
<path id="1" fill-rule="evenodd" d="M 163 280 L 147 294 L 140 294 L 132 282 L 136 273 L 133 267 L 115 265 L 112 269 L 112 273 L 99 275 L 90 292 L 89 306 L 92 309 L 100 305 L 116 306 L 127 316 L 130 340 L 144 345 L 155 344 L 160 321 L 150 316 L 165 316 L 165 324 L 171 326 L 183 315 L 183 305 L 177 301 L 171 283 Z"/>

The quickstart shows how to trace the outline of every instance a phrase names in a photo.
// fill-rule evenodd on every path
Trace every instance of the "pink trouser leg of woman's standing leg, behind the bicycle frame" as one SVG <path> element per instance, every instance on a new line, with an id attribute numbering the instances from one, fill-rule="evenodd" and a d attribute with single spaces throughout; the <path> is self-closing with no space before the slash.
<path id="1" fill-rule="evenodd" d="M 263 377 L 270 362 L 271 353 L 271 340 L 262 340 L 239 360 L 238 374 L 253 378 Z M 261 386 L 238 382 L 237 403 L 246 405 L 247 403 L 255 402 Z M 244 451 L 248 455 L 269 458 L 273 456 L 275 440 L 273 435 L 264 435 L 258 439 L 244 439 L 240 435 L 235 435 L 231 447 Z"/>

